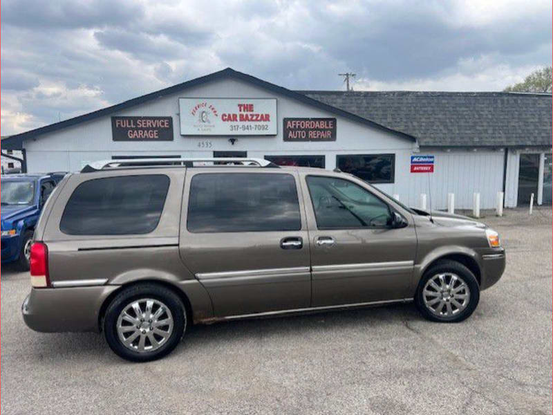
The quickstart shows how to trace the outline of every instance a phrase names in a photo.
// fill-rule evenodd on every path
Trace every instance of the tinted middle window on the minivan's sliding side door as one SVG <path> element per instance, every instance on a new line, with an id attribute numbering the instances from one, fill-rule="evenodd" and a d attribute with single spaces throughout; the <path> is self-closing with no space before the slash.
<path id="1" fill-rule="evenodd" d="M 294 176 L 196 174 L 190 185 L 187 228 L 189 232 L 300 230 Z"/>

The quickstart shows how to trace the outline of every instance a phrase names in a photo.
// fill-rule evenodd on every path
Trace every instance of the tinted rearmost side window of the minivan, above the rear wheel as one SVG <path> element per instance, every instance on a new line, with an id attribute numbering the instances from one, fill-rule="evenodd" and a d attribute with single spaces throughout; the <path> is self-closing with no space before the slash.
<path id="1" fill-rule="evenodd" d="M 169 177 L 95 178 L 77 186 L 59 228 L 72 235 L 145 234 L 160 221 Z"/>

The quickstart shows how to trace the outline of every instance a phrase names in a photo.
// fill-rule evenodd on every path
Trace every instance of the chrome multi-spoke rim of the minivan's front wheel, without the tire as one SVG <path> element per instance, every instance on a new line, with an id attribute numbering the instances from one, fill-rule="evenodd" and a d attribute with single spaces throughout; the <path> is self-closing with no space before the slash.
<path id="1" fill-rule="evenodd" d="M 453 273 L 433 275 L 422 288 L 424 306 L 438 317 L 454 317 L 469 305 L 471 293 L 464 279 Z"/>

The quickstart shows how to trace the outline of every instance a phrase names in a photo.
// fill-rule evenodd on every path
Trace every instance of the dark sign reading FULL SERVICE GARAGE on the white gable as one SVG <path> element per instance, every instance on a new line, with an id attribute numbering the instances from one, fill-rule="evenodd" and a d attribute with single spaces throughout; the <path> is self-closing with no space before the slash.
<path id="1" fill-rule="evenodd" d="M 172 141 L 172 117 L 111 117 L 113 141 Z"/>

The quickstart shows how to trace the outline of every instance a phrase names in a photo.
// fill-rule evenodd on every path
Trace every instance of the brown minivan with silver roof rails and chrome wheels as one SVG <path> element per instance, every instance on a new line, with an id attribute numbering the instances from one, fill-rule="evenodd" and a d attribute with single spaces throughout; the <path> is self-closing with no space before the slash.
<path id="1" fill-rule="evenodd" d="M 414 300 L 460 322 L 505 268 L 497 232 L 411 210 L 339 171 L 253 158 L 109 160 L 46 202 L 23 304 L 36 331 L 103 331 L 119 356 L 187 327 Z"/>

